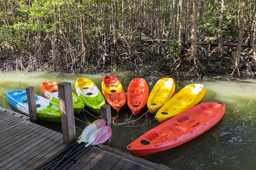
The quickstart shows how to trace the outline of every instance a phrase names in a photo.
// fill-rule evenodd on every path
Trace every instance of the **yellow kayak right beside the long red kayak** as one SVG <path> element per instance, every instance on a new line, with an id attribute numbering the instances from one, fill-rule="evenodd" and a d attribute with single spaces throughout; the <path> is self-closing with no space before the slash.
<path id="1" fill-rule="evenodd" d="M 189 84 L 169 99 L 155 114 L 155 118 L 162 123 L 171 117 L 198 104 L 204 97 L 203 84 Z"/>

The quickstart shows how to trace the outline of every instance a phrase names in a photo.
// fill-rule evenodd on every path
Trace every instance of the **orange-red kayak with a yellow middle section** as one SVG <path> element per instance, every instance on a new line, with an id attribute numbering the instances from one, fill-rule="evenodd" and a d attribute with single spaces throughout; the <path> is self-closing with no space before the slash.
<path id="1" fill-rule="evenodd" d="M 101 82 L 102 94 L 110 106 L 119 111 L 126 104 L 126 94 L 119 79 L 114 75 L 106 75 Z"/>

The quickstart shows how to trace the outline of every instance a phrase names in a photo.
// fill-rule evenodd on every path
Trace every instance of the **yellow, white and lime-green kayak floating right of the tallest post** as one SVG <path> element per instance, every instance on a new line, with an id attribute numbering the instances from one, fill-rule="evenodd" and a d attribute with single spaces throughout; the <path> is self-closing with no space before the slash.
<path id="1" fill-rule="evenodd" d="M 106 104 L 99 88 L 86 77 L 76 79 L 76 94 L 83 100 L 85 106 L 100 114 L 101 106 Z"/>

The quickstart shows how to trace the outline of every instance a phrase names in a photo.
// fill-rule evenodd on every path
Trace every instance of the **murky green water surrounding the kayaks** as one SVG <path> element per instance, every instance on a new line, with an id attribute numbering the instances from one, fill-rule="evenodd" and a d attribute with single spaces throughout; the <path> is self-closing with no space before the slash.
<path id="1" fill-rule="evenodd" d="M 113 73 L 122 83 L 125 91 L 130 81 L 139 77 L 134 73 Z M 5 91 L 23 89 L 33 86 L 35 93 L 42 95 L 40 83 L 53 80 L 56 82 L 70 82 L 72 91 L 75 92 L 75 81 L 80 77 L 87 77 L 101 89 L 103 74 L 60 74 L 60 73 L 0 73 L 0 106 L 8 108 Z M 149 90 L 153 88 L 158 79 L 167 75 L 152 75 L 142 77 L 146 79 Z M 169 77 L 169 76 L 168 76 Z M 175 79 L 176 93 L 184 86 L 191 83 L 202 83 L 206 93 L 204 102 L 224 102 L 226 112 L 221 121 L 209 131 L 196 139 L 176 148 L 147 155 L 143 158 L 162 163 L 177 170 L 254 170 L 256 166 L 255 154 L 255 119 L 256 119 L 256 80 L 250 78 L 213 79 L 213 75 L 204 76 L 204 79 Z M 154 115 L 146 113 L 147 108 L 133 116 L 127 106 L 116 115 L 116 126 L 112 126 L 114 148 L 126 150 L 140 135 L 158 125 Z M 75 115 L 77 135 L 81 130 L 98 115 L 90 110 L 83 110 L 80 115 Z M 127 120 L 127 121 L 126 121 Z M 126 121 L 127 124 L 124 122 Z M 61 125 L 49 122 L 39 122 L 41 125 L 61 132 Z"/>

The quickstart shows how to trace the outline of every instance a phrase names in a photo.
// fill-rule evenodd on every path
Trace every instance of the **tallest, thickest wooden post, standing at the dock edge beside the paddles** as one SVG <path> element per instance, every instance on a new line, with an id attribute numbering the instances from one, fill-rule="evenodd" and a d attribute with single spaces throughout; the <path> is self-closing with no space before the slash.
<path id="1" fill-rule="evenodd" d="M 63 143 L 69 145 L 76 140 L 71 83 L 62 82 L 58 84 L 58 97 L 61 110 Z"/>

